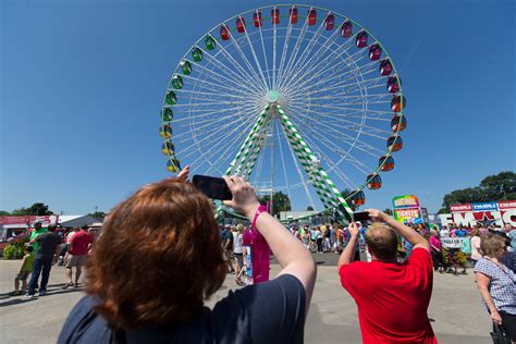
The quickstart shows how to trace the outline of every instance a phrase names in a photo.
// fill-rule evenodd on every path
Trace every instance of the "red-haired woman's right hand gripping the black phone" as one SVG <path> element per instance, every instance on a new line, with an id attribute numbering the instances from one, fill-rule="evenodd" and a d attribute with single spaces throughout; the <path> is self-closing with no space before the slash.
<path id="1" fill-rule="evenodd" d="M 223 175 L 222 177 L 233 195 L 233 199 L 223 201 L 224 205 L 241 211 L 245 213 L 247 218 L 253 219 L 256 209 L 260 206 L 253 186 L 250 186 L 250 184 L 242 176 Z"/>

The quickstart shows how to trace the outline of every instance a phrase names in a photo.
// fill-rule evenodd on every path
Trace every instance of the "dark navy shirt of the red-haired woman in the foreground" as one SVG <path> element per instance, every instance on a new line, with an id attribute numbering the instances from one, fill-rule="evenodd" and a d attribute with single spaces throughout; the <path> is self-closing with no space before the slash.
<path id="1" fill-rule="evenodd" d="M 246 286 L 206 308 L 194 320 L 160 329 L 127 331 L 122 343 L 303 343 L 305 288 L 284 274 Z M 114 332 L 93 309 L 91 297 L 82 298 L 70 312 L 58 343 L 112 343 Z"/>

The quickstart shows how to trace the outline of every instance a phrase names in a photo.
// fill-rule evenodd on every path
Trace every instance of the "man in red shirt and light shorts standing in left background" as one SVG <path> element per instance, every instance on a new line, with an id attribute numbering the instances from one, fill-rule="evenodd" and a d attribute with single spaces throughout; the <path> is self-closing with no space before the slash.
<path id="1" fill-rule="evenodd" d="M 63 286 L 67 288 L 74 285 L 78 287 L 78 279 L 83 267 L 86 265 L 89 245 L 94 243 L 94 236 L 87 232 L 87 226 L 83 225 L 81 231 L 75 233 L 69 243 L 69 258 L 66 260 L 66 275 L 69 282 Z M 75 284 L 72 282 L 72 268 L 75 267 Z"/>

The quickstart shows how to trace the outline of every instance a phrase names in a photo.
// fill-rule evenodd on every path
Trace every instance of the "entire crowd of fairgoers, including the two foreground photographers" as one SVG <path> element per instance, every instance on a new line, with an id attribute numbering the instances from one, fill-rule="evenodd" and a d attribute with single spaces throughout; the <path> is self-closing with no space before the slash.
<path id="1" fill-rule="evenodd" d="M 475 262 L 493 325 L 516 340 L 511 225 L 438 230 L 368 209 L 368 223 L 285 230 L 244 179 L 225 176 L 232 199 L 224 204 L 250 225 L 220 228 L 210 200 L 187 176 L 186 168 L 177 177 L 142 187 L 110 212 L 98 239 L 87 228 L 35 226 L 15 280 L 17 293 L 21 283 L 27 297 L 36 290 L 45 295 L 51 267 L 60 263 L 66 267 L 63 288 L 77 287 L 88 259 L 87 295 L 69 315 L 58 343 L 303 343 L 317 277 L 312 254 L 330 251 L 340 255 L 340 282 L 357 304 L 365 343 L 437 343 L 427 315 L 433 273 L 453 271 L 460 255 Z M 208 309 L 204 302 L 228 273 L 244 284 L 249 228 L 263 236 L 281 271 L 273 280 L 230 292 Z M 449 249 L 444 237 L 460 237 L 463 244 Z"/>

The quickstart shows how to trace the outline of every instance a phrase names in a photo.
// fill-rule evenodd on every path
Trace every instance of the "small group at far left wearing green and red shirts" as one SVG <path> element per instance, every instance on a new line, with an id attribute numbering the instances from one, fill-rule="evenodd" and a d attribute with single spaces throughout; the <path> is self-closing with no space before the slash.
<path id="1" fill-rule="evenodd" d="M 66 269 L 67 281 L 62 288 L 79 287 L 82 270 L 93 248 L 95 233 L 87 225 L 65 229 L 51 223 L 44 228 L 40 221 L 36 221 L 28 233 L 15 238 L 23 241 L 28 237 L 28 242 L 24 245 L 24 257 L 11 295 L 25 294 L 26 298 L 36 297 L 36 293 L 46 295 L 52 266 L 64 266 Z M 72 279 L 73 268 L 75 279 Z"/>

